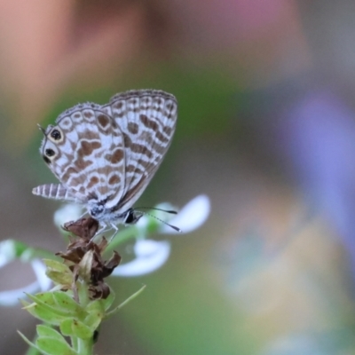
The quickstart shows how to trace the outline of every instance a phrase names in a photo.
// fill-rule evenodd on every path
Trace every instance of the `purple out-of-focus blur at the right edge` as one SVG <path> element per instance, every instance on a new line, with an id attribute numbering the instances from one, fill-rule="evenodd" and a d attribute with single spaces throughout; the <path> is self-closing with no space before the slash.
<path id="1" fill-rule="evenodd" d="M 283 143 L 304 191 L 334 224 L 355 271 L 355 114 L 319 92 L 294 106 L 285 122 Z"/>

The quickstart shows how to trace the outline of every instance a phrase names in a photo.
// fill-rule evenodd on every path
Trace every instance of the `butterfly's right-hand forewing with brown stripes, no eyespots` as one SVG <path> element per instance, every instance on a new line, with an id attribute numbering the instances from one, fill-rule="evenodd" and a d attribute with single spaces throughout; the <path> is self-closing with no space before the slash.
<path id="1" fill-rule="evenodd" d="M 103 108 L 124 138 L 125 178 L 119 204 L 125 210 L 143 193 L 170 146 L 177 99 L 164 91 L 127 91 L 116 94 Z"/>

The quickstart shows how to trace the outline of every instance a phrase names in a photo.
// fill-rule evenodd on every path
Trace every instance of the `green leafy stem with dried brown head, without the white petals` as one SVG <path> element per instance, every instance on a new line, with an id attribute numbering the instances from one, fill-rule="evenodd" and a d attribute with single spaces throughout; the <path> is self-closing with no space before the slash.
<path id="1" fill-rule="evenodd" d="M 99 244 L 92 241 L 99 222 L 91 217 L 69 222 L 63 228 L 76 235 L 75 239 L 70 238 L 65 253 L 56 254 L 64 259 L 64 263 L 44 260 L 46 275 L 55 287 L 35 296 L 27 295 L 32 304 L 22 301 L 24 308 L 46 325 L 37 326 L 36 343 L 19 334 L 31 347 L 48 355 L 87 355 L 92 351 L 102 320 L 122 307 L 121 304 L 108 311 L 114 296 L 104 281 L 120 263 L 121 256 L 114 251 L 108 261 L 102 258 L 107 241 L 105 237 Z M 138 294 L 130 299 L 135 296 Z M 59 327 L 59 331 L 53 326 Z M 70 344 L 65 336 L 70 338 Z"/>

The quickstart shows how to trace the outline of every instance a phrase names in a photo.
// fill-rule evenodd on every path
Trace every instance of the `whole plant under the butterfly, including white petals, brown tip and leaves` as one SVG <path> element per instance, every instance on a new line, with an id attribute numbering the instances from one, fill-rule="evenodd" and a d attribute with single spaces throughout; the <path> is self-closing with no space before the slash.
<path id="1" fill-rule="evenodd" d="M 167 204 L 157 208 L 172 209 Z M 49 355 L 90 354 L 101 321 L 118 312 L 145 288 L 140 288 L 110 311 L 114 302 L 114 291 L 104 279 L 109 275 L 134 277 L 160 268 L 170 256 L 170 241 L 154 241 L 148 237 L 153 233 L 177 234 L 180 228 L 183 233 L 193 232 L 209 217 L 209 199 L 201 195 L 187 203 L 178 215 L 169 221 L 178 225 L 178 228 L 170 228 L 168 223 L 162 225 L 165 216 L 161 210 L 153 209 L 152 212 L 144 213 L 137 225 L 122 229 L 109 243 L 105 237 L 101 237 L 98 243 L 93 241 L 99 224 L 91 217 L 66 223 L 67 220 L 77 219 L 80 215 L 78 206 L 66 205 L 54 216 L 56 225 L 60 226 L 62 231 L 64 229 L 65 233 L 75 235 L 68 235 L 70 242 L 67 251 L 56 254 L 62 261 L 53 260 L 51 251 L 31 248 L 20 241 L 7 240 L 0 243 L 0 268 L 14 259 L 19 259 L 30 263 L 36 274 L 36 281 L 28 286 L 0 292 L 0 304 L 17 304 L 20 296 L 28 296 L 32 304 L 21 301 L 22 304 L 45 325 L 37 326 L 36 343 L 30 342 L 25 335 L 19 333 L 31 347 Z M 121 256 L 114 248 L 130 240 L 135 240 L 133 251 L 136 257 L 120 264 Z M 104 252 L 113 254 L 105 261 L 102 256 Z M 38 291 L 41 292 L 34 295 Z M 59 327 L 59 331 L 53 326 Z M 70 343 L 65 336 L 69 337 Z"/>

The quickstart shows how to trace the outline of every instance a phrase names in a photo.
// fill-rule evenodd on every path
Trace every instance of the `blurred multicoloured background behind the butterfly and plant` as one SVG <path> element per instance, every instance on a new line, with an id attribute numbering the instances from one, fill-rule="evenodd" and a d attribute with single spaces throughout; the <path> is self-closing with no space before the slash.
<path id="1" fill-rule="evenodd" d="M 96 353 L 355 354 L 355 3 L 0 1 L 2 239 L 62 250 L 36 123 L 119 91 L 177 96 L 177 132 L 140 201 L 212 212 L 160 270 L 114 279 Z M 157 236 L 157 239 L 162 236 Z M 124 257 L 124 250 L 119 250 Z M 34 278 L 0 273 L 1 290 Z M 35 333 L 1 308 L 2 353 Z"/>

